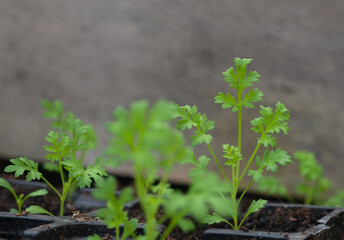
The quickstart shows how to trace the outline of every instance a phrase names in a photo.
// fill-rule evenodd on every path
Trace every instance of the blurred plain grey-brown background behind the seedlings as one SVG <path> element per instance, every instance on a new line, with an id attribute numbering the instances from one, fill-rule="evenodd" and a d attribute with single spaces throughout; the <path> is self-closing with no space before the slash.
<path id="1" fill-rule="evenodd" d="M 261 75 L 261 104 L 290 109 L 291 130 L 279 145 L 290 155 L 313 151 L 343 189 L 343 9 L 342 0 L 1 0 L 0 156 L 44 159 L 50 126 L 42 98 L 94 125 L 99 147 L 89 162 L 107 144 L 104 122 L 116 106 L 162 97 L 215 120 L 221 154 L 223 143 L 236 143 L 237 117 L 213 98 L 228 90 L 222 72 L 234 57 L 246 57 Z M 244 114 L 246 156 L 257 116 Z M 296 167 L 279 169 L 289 186 Z M 187 169 L 178 167 L 173 180 L 187 181 Z"/>

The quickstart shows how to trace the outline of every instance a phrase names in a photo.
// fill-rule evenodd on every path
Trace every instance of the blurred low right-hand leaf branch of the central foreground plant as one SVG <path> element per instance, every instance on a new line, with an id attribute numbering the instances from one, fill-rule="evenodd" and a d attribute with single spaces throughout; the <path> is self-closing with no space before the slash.
<path id="1" fill-rule="evenodd" d="M 208 217 L 209 207 L 229 217 L 233 208 L 228 196 L 231 187 L 228 182 L 221 181 L 214 173 L 194 176 L 187 193 L 172 191 L 163 199 L 164 217 L 169 219 L 169 224 L 164 233 L 167 237 L 170 231 L 177 225 L 182 231 L 195 229 L 195 224 L 190 217 L 198 222 Z M 161 223 L 164 223 L 161 221 Z"/>

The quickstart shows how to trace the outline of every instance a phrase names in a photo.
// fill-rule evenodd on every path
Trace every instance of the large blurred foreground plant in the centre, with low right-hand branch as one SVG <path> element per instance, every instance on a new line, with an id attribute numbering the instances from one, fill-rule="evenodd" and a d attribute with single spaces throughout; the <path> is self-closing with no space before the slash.
<path id="1" fill-rule="evenodd" d="M 138 239 L 156 239 L 159 225 L 167 220 L 170 221 L 159 237 L 161 240 L 177 225 L 184 231 L 191 230 L 195 226 L 186 216 L 200 219 L 214 202 L 228 203 L 218 194 L 226 185 L 216 177 L 209 177 L 206 182 L 213 184 L 210 188 L 204 178 L 198 179 L 185 195 L 170 188 L 167 180 L 174 165 L 192 159 L 192 150 L 185 146 L 183 134 L 171 126 L 174 108 L 173 103 L 164 100 L 151 108 L 146 101 L 136 101 L 129 110 L 118 107 L 114 111 L 115 121 L 107 125 L 112 138 L 105 162 L 112 167 L 124 162 L 133 166 L 136 195 L 145 216 L 145 235 Z M 158 213 L 162 214 L 159 220 Z"/>

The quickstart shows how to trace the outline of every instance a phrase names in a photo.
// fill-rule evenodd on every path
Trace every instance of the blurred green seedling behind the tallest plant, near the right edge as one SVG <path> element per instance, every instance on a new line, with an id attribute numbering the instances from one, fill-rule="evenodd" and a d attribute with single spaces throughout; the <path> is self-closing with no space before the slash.
<path id="1" fill-rule="evenodd" d="M 297 184 L 293 195 L 302 197 L 304 204 L 344 206 L 344 191 L 338 191 L 333 197 L 326 199 L 326 192 L 331 189 L 333 183 L 323 175 L 323 168 L 313 153 L 298 151 L 294 153 L 294 158 L 298 163 L 302 180 Z M 295 202 L 287 193 L 287 188 L 273 176 L 261 179 L 257 190 Z"/>

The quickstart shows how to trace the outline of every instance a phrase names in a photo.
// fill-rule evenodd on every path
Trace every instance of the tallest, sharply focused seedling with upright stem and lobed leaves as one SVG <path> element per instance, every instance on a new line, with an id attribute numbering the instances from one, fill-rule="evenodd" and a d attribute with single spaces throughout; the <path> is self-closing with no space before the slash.
<path id="1" fill-rule="evenodd" d="M 229 173 L 225 171 L 222 162 L 216 156 L 210 143 L 213 137 L 209 134 L 209 131 L 214 128 L 214 122 L 208 121 L 205 114 L 198 112 L 196 106 L 180 106 L 176 113 L 176 117 L 179 118 L 177 128 L 181 130 L 194 128 L 194 135 L 191 136 L 192 145 L 197 146 L 199 144 L 205 144 L 209 149 L 213 159 L 215 160 L 222 176 L 228 182 L 231 183 L 231 200 L 233 202 L 232 214 L 225 217 L 231 217 L 233 224 L 225 221 L 221 212 L 214 212 L 214 214 L 207 218 L 209 223 L 213 222 L 227 222 L 233 229 L 239 229 L 246 219 L 246 217 L 258 211 L 262 208 L 267 201 L 259 199 L 253 201 L 248 208 L 246 214 L 241 218 L 239 222 L 239 204 L 244 197 L 245 193 L 252 185 L 253 182 L 259 181 L 263 177 L 263 170 L 276 171 L 277 163 L 284 166 L 290 163 L 290 157 L 286 151 L 281 148 L 277 148 L 276 138 L 273 137 L 274 133 L 283 132 L 288 133 L 288 120 L 289 111 L 284 104 L 277 102 L 275 109 L 271 107 L 260 106 L 261 117 L 258 117 L 251 121 L 252 130 L 259 134 L 257 138 L 257 144 L 248 160 L 244 161 L 242 154 L 242 112 L 244 108 L 254 108 L 253 103 L 258 102 L 262 99 L 263 93 L 257 88 L 251 88 L 255 82 L 259 80 L 259 74 L 255 71 L 246 71 L 247 65 L 251 62 L 251 59 L 240 59 L 235 58 L 234 63 L 236 69 L 233 67 L 229 68 L 223 73 L 224 80 L 229 83 L 229 86 L 236 91 L 236 94 L 231 93 L 218 93 L 215 97 L 215 103 L 222 104 L 222 108 L 231 109 L 232 112 L 238 113 L 238 140 L 236 145 L 224 144 L 223 147 L 223 158 L 226 160 L 224 165 L 230 168 Z M 257 156 L 258 151 L 261 147 L 266 148 L 263 156 Z M 270 150 L 274 148 L 275 150 Z M 190 174 L 199 174 L 205 171 L 206 166 L 209 162 L 206 156 L 201 156 L 198 161 L 190 161 L 195 165 L 195 169 Z M 256 164 L 256 169 L 252 168 L 253 163 Z M 247 186 L 244 186 L 244 191 L 238 196 L 238 190 L 241 186 L 242 180 L 246 176 L 251 177 L 251 181 Z M 221 216 L 222 214 L 222 216 Z"/>

